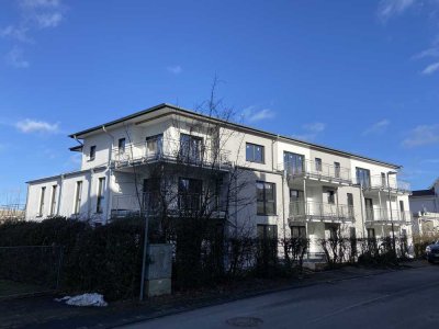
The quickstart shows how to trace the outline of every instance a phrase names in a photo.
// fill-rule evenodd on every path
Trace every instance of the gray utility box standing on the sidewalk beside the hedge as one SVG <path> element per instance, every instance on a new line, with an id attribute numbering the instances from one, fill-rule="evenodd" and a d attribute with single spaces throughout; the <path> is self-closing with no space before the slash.
<path id="1" fill-rule="evenodd" d="M 148 246 L 149 265 L 146 288 L 148 297 L 171 293 L 172 245 Z"/>

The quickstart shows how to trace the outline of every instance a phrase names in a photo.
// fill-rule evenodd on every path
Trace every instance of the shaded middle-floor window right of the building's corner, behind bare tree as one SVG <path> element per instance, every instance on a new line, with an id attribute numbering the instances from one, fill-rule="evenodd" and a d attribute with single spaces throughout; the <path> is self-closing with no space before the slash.
<path id="1" fill-rule="evenodd" d="M 178 206 L 181 211 L 199 211 L 201 207 L 201 180 L 180 178 Z"/>

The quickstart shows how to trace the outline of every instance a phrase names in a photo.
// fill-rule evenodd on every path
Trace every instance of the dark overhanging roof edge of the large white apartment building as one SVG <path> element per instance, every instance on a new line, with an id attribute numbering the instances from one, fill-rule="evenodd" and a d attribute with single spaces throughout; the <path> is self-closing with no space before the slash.
<path id="1" fill-rule="evenodd" d="M 311 147 L 320 148 L 320 149 L 324 149 L 324 150 L 329 150 L 329 151 L 341 154 L 341 155 L 345 155 L 345 156 L 356 157 L 356 158 L 359 158 L 359 159 L 363 159 L 363 160 L 368 160 L 368 161 L 385 164 L 385 166 L 389 166 L 389 167 L 392 167 L 392 168 L 395 168 L 395 169 L 402 168 L 402 166 L 399 166 L 399 164 L 395 164 L 395 163 L 391 163 L 391 162 L 386 162 L 386 161 L 381 161 L 381 160 L 378 160 L 378 159 L 373 159 L 373 158 L 369 158 L 369 157 L 365 157 L 365 156 L 361 156 L 361 155 L 357 155 L 357 154 L 339 150 L 339 149 L 327 147 L 327 146 L 324 146 L 324 145 L 314 144 L 314 143 L 309 143 L 309 141 L 306 141 L 306 140 L 301 140 L 301 139 L 297 139 L 297 138 L 283 136 L 283 135 L 279 135 L 279 134 L 274 134 L 274 133 L 270 133 L 270 132 L 267 132 L 267 131 L 258 129 L 258 128 L 250 127 L 250 126 L 243 125 L 243 124 L 227 122 L 227 121 L 214 117 L 214 116 L 200 114 L 200 113 L 193 112 L 191 110 L 182 109 L 180 106 L 176 106 L 176 105 L 168 104 L 168 103 L 161 103 L 161 104 L 158 104 L 156 106 L 153 106 L 153 107 L 149 107 L 149 109 L 146 109 L 146 110 L 143 110 L 143 111 L 139 111 L 139 112 L 123 116 L 121 118 L 117 118 L 117 120 L 114 120 L 114 121 L 110 121 L 110 122 L 104 123 L 102 125 L 94 126 L 94 127 L 91 127 L 91 128 L 88 128 L 88 129 L 85 129 L 85 131 L 80 131 L 80 132 L 75 133 L 75 134 L 70 134 L 69 137 L 70 138 L 79 138 L 79 139 L 81 139 L 82 135 L 86 135 L 86 134 L 102 129 L 102 127 L 105 127 L 105 128 L 106 127 L 111 127 L 111 126 L 116 125 L 119 123 L 122 123 L 124 121 L 132 120 L 132 118 L 135 118 L 137 116 L 145 115 L 145 114 L 154 113 L 154 112 L 156 112 L 158 110 L 166 109 L 166 107 L 175 110 L 177 112 L 181 112 L 181 113 L 190 114 L 190 115 L 193 115 L 193 116 L 198 116 L 200 118 L 213 120 L 213 121 L 216 121 L 216 122 L 221 122 L 221 123 L 223 123 L 225 125 L 229 125 L 229 126 L 237 127 L 237 128 L 240 128 L 240 129 L 245 129 L 245 131 L 262 134 L 262 135 L 266 135 L 266 136 L 270 136 L 271 138 L 282 138 L 282 139 L 285 139 L 285 140 L 291 140 L 291 141 L 303 144 L 303 145 L 307 145 L 307 146 L 311 146 Z"/>

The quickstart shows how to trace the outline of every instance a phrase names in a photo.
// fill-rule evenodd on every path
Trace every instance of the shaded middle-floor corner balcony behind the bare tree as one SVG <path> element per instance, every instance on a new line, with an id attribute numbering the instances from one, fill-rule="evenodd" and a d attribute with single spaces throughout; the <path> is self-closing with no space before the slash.
<path id="1" fill-rule="evenodd" d="M 193 214 L 209 216 L 211 218 L 224 218 L 225 209 L 219 205 L 218 197 L 212 196 L 205 202 L 204 195 L 196 193 L 184 193 L 166 195 L 167 216 L 191 216 Z M 139 195 L 119 194 L 113 196 L 111 217 L 123 218 L 139 216 L 142 213 L 148 215 L 160 215 L 161 197 L 159 193 L 139 193 Z"/>

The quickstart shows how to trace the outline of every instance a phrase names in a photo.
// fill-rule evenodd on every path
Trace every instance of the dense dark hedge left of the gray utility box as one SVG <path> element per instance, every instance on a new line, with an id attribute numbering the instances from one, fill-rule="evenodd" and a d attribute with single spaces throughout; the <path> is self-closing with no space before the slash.
<path id="1" fill-rule="evenodd" d="M 0 246 L 61 246 L 60 288 L 98 292 L 111 300 L 138 294 L 143 229 L 139 218 L 115 220 L 95 228 L 66 218 L 5 222 L 0 225 Z M 26 251 L 23 249 L 23 252 Z M 20 259 L 12 261 L 11 257 L 8 262 L 9 273 L 14 270 L 30 273 L 42 266 Z"/>

